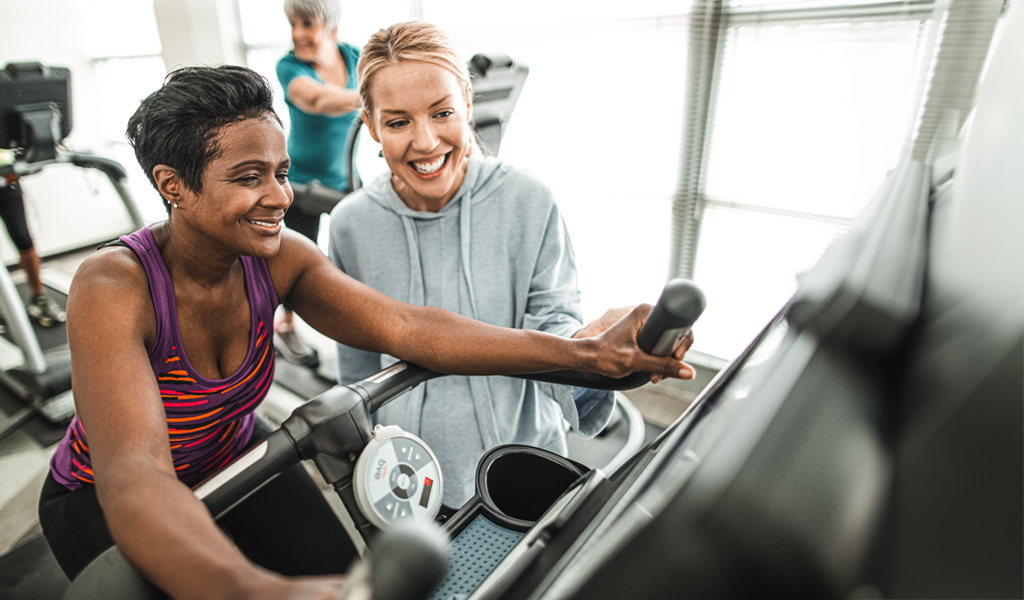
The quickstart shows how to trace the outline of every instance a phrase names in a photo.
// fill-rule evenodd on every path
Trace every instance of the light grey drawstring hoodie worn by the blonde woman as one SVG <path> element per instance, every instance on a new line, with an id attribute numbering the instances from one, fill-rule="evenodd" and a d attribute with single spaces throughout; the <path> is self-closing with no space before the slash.
<path id="1" fill-rule="evenodd" d="M 403 302 L 565 337 L 582 327 L 575 257 L 551 191 L 495 158 L 471 156 L 458 194 L 437 213 L 407 207 L 385 173 L 331 213 L 330 256 L 349 275 Z M 343 384 L 394 361 L 338 346 Z M 444 377 L 396 398 L 375 421 L 423 438 L 441 464 L 444 504 L 458 508 L 474 492 L 485 451 L 524 443 L 564 455 L 563 418 L 592 436 L 612 408 L 605 394 L 581 414 L 568 386 Z"/>

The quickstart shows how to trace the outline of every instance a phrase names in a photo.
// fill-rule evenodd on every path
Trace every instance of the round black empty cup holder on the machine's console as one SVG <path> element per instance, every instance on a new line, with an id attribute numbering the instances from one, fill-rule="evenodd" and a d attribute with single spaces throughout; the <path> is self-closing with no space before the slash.
<path id="1" fill-rule="evenodd" d="M 586 472 L 582 465 L 553 453 L 507 445 L 481 461 L 477 489 L 499 513 L 534 522 Z"/>

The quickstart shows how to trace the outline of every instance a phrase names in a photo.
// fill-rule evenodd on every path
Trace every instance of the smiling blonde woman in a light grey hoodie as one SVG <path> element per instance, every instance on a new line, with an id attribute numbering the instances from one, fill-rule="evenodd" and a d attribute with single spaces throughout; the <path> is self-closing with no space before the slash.
<path id="1" fill-rule="evenodd" d="M 601 331 L 629 309 L 583 327 L 575 258 L 551 190 L 477 147 L 466 63 L 436 26 L 412 22 L 371 37 L 359 58 L 362 120 L 390 172 L 331 215 L 329 256 L 352 277 L 403 302 L 565 338 Z M 689 348 L 692 337 L 680 348 Z M 339 345 L 341 384 L 394 358 Z M 689 367 L 684 378 L 692 377 Z M 480 457 L 503 443 L 565 455 L 563 418 L 601 431 L 610 392 L 505 377 L 428 381 L 375 414 L 419 435 L 444 473 L 444 505 L 474 492 Z"/>

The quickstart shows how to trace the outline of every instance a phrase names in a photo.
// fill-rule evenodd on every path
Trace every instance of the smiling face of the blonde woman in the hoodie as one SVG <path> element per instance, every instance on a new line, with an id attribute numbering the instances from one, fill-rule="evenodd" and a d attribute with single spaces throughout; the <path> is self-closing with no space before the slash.
<path id="1" fill-rule="evenodd" d="M 469 90 L 451 71 L 407 60 L 379 71 L 364 114 L 392 185 L 412 209 L 437 212 L 462 185 L 472 149 Z"/>

